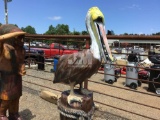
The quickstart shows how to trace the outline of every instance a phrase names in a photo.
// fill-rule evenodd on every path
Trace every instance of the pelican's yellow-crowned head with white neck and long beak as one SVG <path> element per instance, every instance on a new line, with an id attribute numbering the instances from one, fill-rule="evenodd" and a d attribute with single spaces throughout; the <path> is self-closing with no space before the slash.
<path id="1" fill-rule="evenodd" d="M 105 54 L 106 51 L 108 59 L 114 61 L 106 38 L 104 15 L 98 7 L 92 7 L 89 9 L 86 16 L 86 27 L 92 40 L 91 50 L 95 51 L 93 53 L 95 54 L 95 58 L 97 57 L 100 59 L 100 56 L 96 55 L 99 50 L 98 54 L 103 55 L 104 60 L 107 61 Z M 97 50 L 95 50 L 96 47 L 98 47 Z"/>

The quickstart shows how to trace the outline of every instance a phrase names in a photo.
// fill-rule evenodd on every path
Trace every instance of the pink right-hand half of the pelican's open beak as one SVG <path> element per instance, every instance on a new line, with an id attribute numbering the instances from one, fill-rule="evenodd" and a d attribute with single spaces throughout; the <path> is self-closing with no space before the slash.
<path id="1" fill-rule="evenodd" d="M 105 61 L 107 61 L 107 59 L 106 59 L 106 55 L 107 55 L 108 59 L 111 62 L 113 62 L 114 58 L 113 58 L 111 50 L 109 48 L 108 40 L 107 40 L 107 37 L 106 37 L 105 27 L 102 23 L 96 23 L 96 24 L 97 24 L 98 33 L 99 33 L 102 55 L 104 56 Z"/>

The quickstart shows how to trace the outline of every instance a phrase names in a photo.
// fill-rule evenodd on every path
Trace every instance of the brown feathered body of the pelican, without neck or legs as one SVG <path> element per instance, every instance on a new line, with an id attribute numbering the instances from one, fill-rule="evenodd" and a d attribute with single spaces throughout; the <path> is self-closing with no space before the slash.
<path id="1" fill-rule="evenodd" d="M 63 55 L 55 72 L 54 83 L 82 83 L 98 71 L 101 62 L 93 57 L 90 50 Z"/>

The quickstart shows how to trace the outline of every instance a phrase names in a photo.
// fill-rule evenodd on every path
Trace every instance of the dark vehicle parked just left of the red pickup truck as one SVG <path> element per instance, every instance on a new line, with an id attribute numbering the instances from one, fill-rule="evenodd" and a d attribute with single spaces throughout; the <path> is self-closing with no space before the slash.
<path id="1" fill-rule="evenodd" d="M 35 50 L 26 45 L 24 45 L 25 49 L 25 64 L 37 64 L 41 62 L 42 58 L 44 59 L 44 51 L 43 50 Z"/>

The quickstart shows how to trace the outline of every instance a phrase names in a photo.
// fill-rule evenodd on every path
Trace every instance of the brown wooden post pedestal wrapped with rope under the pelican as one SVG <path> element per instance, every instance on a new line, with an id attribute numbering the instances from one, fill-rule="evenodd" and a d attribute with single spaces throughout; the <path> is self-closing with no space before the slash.
<path id="1" fill-rule="evenodd" d="M 63 91 L 57 101 L 60 120 L 92 120 L 95 110 L 93 93 L 87 89 L 83 89 L 81 93 L 79 89 L 75 89 L 74 91 L 76 94 L 82 95 L 82 102 L 73 101 L 71 105 L 69 105 L 67 97 L 70 90 Z"/>

